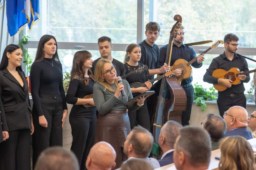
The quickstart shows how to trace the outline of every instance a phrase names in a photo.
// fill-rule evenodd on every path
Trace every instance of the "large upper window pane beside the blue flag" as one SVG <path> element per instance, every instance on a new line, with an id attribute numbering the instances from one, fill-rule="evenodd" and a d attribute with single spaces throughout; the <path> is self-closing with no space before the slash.
<path id="1" fill-rule="evenodd" d="M 62 42 L 98 42 L 101 36 L 115 43 L 136 42 L 137 1 L 47 0 L 43 34 Z M 44 9 L 43 9 L 44 10 Z M 42 16 L 44 17 L 44 16 Z M 36 29 L 28 35 L 38 41 Z"/>

